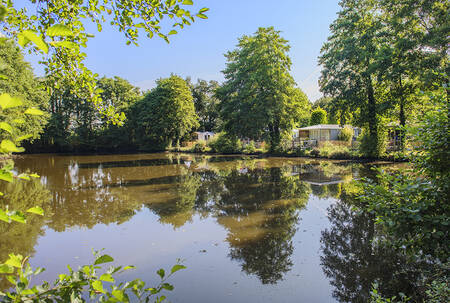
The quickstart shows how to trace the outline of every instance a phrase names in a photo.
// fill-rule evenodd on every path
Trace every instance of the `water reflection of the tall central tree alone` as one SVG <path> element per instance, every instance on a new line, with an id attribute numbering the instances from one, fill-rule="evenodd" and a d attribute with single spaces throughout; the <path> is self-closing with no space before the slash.
<path id="1" fill-rule="evenodd" d="M 309 187 L 279 167 L 233 171 L 224 185 L 216 207 L 217 221 L 229 231 L 229 256 L 263 284 L 277 283 L 293 265 L 292 237 Z"/>

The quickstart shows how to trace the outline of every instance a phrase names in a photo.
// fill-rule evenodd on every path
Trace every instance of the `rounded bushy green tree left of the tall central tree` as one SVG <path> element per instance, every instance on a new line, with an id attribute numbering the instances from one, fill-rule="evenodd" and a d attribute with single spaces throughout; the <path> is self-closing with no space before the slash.
<path id="1" fill-rule="evenodd" d="M 186 81 L 172 75 L 159 79 L 157 86 L 133 106 L 136 138 L 141 144 L 157 142 L 161 147 L 177 146 L 183 136 L 199 126 L 191 90 Z"/>

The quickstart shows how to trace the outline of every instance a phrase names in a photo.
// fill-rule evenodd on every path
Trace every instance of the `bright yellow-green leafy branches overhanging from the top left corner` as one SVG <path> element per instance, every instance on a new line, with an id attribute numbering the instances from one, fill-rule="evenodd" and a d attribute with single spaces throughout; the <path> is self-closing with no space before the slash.
<path id="1" fill-rule="evenodd" d="M 144 32 L 148 38 L 157 35 L 167 42 L 177 29 L 191 25 L 196 18 L 206 19 L 207 8 L 191 13 L 187 7 L 191 0 L 153 1 L 153 0 L 48 0 L 45 2 L 30 0 L 27 5 L 35 9 L 28 10 L 25 3 L 2 1 L 2 30 L 17 39 L 20 45 L 43 55 L 41 63 L 45 66 L 46 76 L 58 88 L 62 79 L 77 90 L 87 90 L 97 111 L 113 122 L 120 123 L 123 116 L 113 106 L 101 102 L 96 87 L 97 75 L 84 64 L 89 38 L 88 24 L 94 24 L 99 32 L 108 22 L 125 36 L 127 44 L 137 45 L 139 35 Z M 161 20 L 168 17 L 164 26 Z M 108 21 L 107 21 L 108 20 Z M 167 27 L 172 27 L 166 30 Z"/>

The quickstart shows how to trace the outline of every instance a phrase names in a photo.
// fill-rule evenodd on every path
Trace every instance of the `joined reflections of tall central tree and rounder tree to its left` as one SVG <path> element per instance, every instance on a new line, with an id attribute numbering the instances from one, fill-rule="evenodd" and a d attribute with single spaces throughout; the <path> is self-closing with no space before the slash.
<path id="1" fill-rule="evenodd" d="M 264 284 L 277 283 L 293 263 L 292 237 L 310 193 L 291 167 L 189 172 L 175 178 L 170 196 L 146 206 L 174 227 L 193 213 L 215 217 L 228 230 L 229 256 Z"/>

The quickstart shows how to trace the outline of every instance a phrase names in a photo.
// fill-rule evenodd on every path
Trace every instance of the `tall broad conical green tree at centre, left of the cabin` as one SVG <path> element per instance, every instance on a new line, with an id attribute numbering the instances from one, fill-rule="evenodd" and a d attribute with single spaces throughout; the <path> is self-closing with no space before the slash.
<path id="1" fill-rule="evenodd" d="M 278 148 L 309 103 L 289 74 L 288 41 L 273 27 L 239 39 L 225 56 L 225 83 L 217 91 L 224 129 L 232 135 L 261 139 Z"/>

